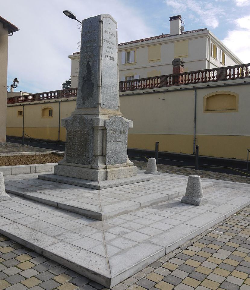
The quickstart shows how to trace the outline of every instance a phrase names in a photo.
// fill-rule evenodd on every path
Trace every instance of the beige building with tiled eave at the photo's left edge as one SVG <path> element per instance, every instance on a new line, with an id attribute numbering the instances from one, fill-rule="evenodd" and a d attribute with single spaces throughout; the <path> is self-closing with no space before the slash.
<path id="1" fill-rule="evenodd" d="M 0 16 L 0 144 L 6 140 L 8 36 L 18 28 Z"/>

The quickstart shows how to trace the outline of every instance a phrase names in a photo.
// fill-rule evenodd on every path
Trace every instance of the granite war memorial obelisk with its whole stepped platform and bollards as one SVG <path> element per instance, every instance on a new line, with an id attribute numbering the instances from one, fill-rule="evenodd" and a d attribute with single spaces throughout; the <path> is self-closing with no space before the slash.
<path id="1" fill-rule="evenodd" d="M 83 20 L 63 160 L 53 173 L 4 174 L 1 187 L 1 234 L 107 288 L 250 204 L 249 184 L 159 173 L 154 160 L 144 173 L 128 159 L 116 29 L 108 14 Z"/>

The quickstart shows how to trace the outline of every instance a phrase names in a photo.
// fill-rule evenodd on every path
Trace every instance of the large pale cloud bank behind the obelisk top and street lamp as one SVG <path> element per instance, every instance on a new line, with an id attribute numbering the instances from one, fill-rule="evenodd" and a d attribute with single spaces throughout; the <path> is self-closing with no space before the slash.
<path id="1" fill-rule="evenodd" d="M 153 34 L 146 19 L 122 0 L 13 0 L 0 2 L 1 16 L 20 31 L 9 36 L 8 85 L 14 77 L 19 90 L 31 93 L 61 89 L 70 77 L 68 55 L 78 51 L 81 38 L 78 22 L 62 11 L 71 10 L 79 20 L 109 13 L 118 22 L 119 42 L 144 38 Z"/>

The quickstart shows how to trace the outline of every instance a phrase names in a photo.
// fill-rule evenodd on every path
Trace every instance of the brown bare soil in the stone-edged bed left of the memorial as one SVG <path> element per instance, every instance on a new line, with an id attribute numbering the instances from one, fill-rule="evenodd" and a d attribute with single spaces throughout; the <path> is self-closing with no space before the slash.
<path id="1" fill-rule="evenodd" d="M 0 166 L 56 163 L 59 160 L 62 160 L 62 158 L 63 156 L 53 153 L 42 155 L 1 156 Z"/>

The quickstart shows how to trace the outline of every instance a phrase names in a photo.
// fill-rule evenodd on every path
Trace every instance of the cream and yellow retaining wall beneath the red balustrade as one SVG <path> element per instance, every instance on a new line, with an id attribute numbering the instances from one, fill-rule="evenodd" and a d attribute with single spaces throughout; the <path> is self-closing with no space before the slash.
<path id="1" fill-rule="evenodd" d="M 245 79 L 250 83 L 249 79 Z M 237 81 L 230 81 L 231 84 Z M 250 148 L 249 127 L 249 88 L 247 85 L 225 87 L 224 82 L 216 82 L 221 87 L 197 88 L 196 113 L 196 145 L 205 156 L 246 159 Z M 200 86 L 204 84 L 200 84 Z M 180 90 L 190 87 L 190 90 Z M 170 88 L 173 90 L 173 87 Z M 120 110 L 125 118 L 133 120 L 133 128 L 129 129 L 128 147 L 154 150 L 155 142 L 159 141 L 160 151 L 176 153 L 193 153 L 194 133 L 194 98 L 192 85 L 175 86 L 174 91 L 157 92 L 145 90 L 120 94 Z M 127 95 L 126 95 L 127 94 Z M 129 95 L 130 94 L 130 95 Z M 204 113 L 207 97 L 215 97 L 212 108 L 221 108 L 226 96 L 227 106 L 233 106 L 231 96 L 237 99 L 237 111 L 217 110 L 212 114 Z M 221 98 L 224 100 L 222 102 Z M 236 100 L 235 99 L 235 100 Z M 75 101 L 61 102 L 61 118 L 71 115 L 75 109 Z M 44 107 L 53 108 L 52 118 L 42 118 Z M 22 117 L 17 116 L 21 106 L 7 108 L 7 134 L 22 136 Z M 58 139 L 58 103 L 43 103 L 25 106 L 25 134 L 39 139 Z M 65 128 L 60 128 L 60 140 L 65 140 Z"/>

